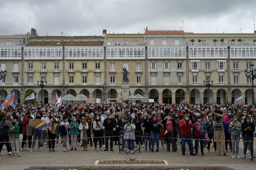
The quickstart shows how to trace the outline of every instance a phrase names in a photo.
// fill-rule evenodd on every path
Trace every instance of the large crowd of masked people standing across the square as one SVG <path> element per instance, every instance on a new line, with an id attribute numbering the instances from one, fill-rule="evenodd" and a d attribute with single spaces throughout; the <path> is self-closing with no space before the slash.
<path id="1" fill-rule="evenodd" d="M 159 152 L 160 140 L 162 149 L 166 147 L 173 152 L 181 149 L 182 155 L 186 152 L 186 142 L 190 155 L 198 154 L 199 144 L 201 155 L 205 154 L 205 147 L 206 153 L 210 153 L 213 143 L 213 152 L 218 156 L 232 152 L 232 158 L 240 158 L 239 141 L 242 139 L 242 158 L 253 154 L 250 141 L 255 131 L 255 105 L 102 102 L 54 106 L 17 104 L 16 108 L 7 106 L 1 110 L 0 148 L 4 150 L 5 145 L 8 155 L 20 156 L 25 147 L 27 151 L 35 151 L 38 141 L 38 151 L 47 145 L 49 152 L 54 152 L 55 144 L 60 142 L 63 152 L 76 151 L 78 146 L 88 151 L 89 145 L 94 147 L 93 151 L 97 148 L 113 151 L 113 144 L 130 153 L 139 145 L 151 152 L 156 146 L 155 151 Z M 40 130 L 34 126 L 32 135 L 28 134 L 30 119 L 44 120 L 47 126 Z M 60 124 L 58 131 L 52 131 L 54 124 Z M 22 141 L 21 146 L 19 141 Z"/>

